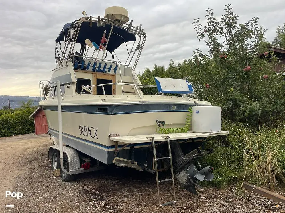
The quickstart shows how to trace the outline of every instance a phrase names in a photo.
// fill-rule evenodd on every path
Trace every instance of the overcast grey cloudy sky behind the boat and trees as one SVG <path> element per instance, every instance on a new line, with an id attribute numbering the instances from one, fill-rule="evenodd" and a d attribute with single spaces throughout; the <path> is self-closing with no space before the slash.
<path id="1" fill-rule="evenodd" d="M 206 51 L 196 38 L 194 18 L 205 20 L 205 9 L 216 16 L 231 3 L 240 21 L 260 18 L 272 41 L 277 26 L 284 23 L 284 0 L 157 0 L 157 1 L 74 1 L 0 0 L 0 95 L 39 95 L 38 81 L 49 80 L 55 68 L 54 40 L 65 23 L 82 17 L 104 15 L 106 7 L 121 6 L 129 12 L 133 25 L 142 24 L 146 44 L 136 71 L 154 64 L 168 66 L 170 59 L 190 58 L 196 48 Z M 118 3 L 119 2 L 119 3 Z M 173 43 L 176 43 L 173 45 Z M 177 44 L 178 43 L 178 44 Z"/>

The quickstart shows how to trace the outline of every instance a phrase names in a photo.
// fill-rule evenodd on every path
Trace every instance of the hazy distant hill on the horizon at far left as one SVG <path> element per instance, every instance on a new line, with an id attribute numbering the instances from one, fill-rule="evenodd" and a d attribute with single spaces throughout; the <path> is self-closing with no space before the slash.
<path id="1" fill-rule="evenodd" d="M 40 98 L 38 97 L 0 95 L 0 109 L 2 109 L 2 106 L 8 106 L 8 99 L 10 100 L 11 109 L 19 108 L 21 106 L 20 101 L 27 102 L 32 99 L 34 101 L 34 105 L 38 105 L 38 102 L 40 101 Z"/>

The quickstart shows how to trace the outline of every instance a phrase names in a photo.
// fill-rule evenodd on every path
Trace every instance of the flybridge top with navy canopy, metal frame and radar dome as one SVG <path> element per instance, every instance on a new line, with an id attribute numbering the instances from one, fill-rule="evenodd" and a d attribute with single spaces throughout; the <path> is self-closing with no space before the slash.
<path id="1" fill-rule="evenodd" d="M 97 59 L 99 50 L 94 50 L 97 53 L 97 57 L 93 57 L 93 55 L 92 57 L 87 56 L 87 53 L 84 54 L 86 52 L 85 41 L 89 39 L 92 43 L 94 42 L 97 46 L 100 46 L 102 36 L 104 35 L 107 38 L 107 42 L 102 44 L 104 50 L 102 51 L 102 57 L 100 57 L 100 63 L 103 59 L 106 59 L 107 52 L 111 54 L 111 59 L 114 61 L 114 57 L 117 57 L 114 51 L 123 43 L 126 43 L 128 56 L 125 63 L 122 63 L 118 57 L 117 59 L 119 64 L 124 64 L 127 67 L 131 66 L 131 61 L 134 59 L 132 69 L 135 70 L 146 40 L 146 34 L 143 31 L 142 25 L 133 26 L 133 20 L 130 20 L 130 24 L 127 24 L 126 22 L 129 21 L 128 12 L 122 7 L 107 8 L 104 18 L 100 16 L 88 17 L 85 11 L 83 14 L 85 17 L 65 24 L 56 38 L 56 62 L 60 62 L 60 66 L 67 66 L 70 61 L 75 64 L 74 57 L 81 57 L 82 59 L 84 55 L 88 60 L 96 60 L 97 62 L 97 60 L 100 60 Z M 64 42 L 63 49 L 61 42 Z M 133 42 L 131 49 L 128 48 L 127 42 Z M 81 45 L 80 51 L 77 54 L 74 53 L 76 44 Z M 78 65 L 81 64 L 79 63 Z M 91 66 L 93 65 L 91 64 Z M 96 66 L 99 66 L 99 63 Z M 100 68 L 97 70 L 100 71 Z"/>

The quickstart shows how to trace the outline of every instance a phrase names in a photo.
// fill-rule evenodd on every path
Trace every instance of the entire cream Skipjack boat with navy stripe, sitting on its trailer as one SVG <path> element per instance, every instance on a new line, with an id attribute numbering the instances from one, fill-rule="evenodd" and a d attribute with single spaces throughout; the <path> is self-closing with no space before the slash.
<path id="1" fill-rule="evenodd" d="M 108 7 L 104 17 L 82 14 L 64 25 L 55 40 L 52 77 L 39 82 L 53 170 L 61 170 L 63 181 L 108 164 L 156 174 L 159 206 L 176 202 L 174 188 L 174 201 L 161 204 L 159 197 L 159 184 L 174 187 L 175 177 L 197 194 L 198 181 L 214 178 L 213 168 L 198 162 L 207 154 L 207 138 L 229 134 L 221 130 L 221 108 L 193 98 L 186 79 L 141 84 L 135 70 L 146 32 L 125 8 Z M 144 95 L 144 89 L 154 94 Z M 159 180 L 167 171 L 170 178 Z"/>

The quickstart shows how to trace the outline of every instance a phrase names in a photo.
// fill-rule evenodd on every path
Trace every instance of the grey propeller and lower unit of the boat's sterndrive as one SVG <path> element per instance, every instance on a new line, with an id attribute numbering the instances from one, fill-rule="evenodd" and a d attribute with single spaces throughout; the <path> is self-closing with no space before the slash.
<path id="1" fill-rule="evenodd" d="M 213 167 L 207 166 L 202 168 L 200 162 L 197 163 L 200 167 L 200 171 L 198 171 L 196 166 L 193 164 L 188 166 L 186 171 L 187 178 L 184 184 L 182 184 L 184 189 L 190 191 L 194 195 L 198 195 L 195 186 L 200 187 L 199 181 L 212 181 L 214 179 Z"/>

